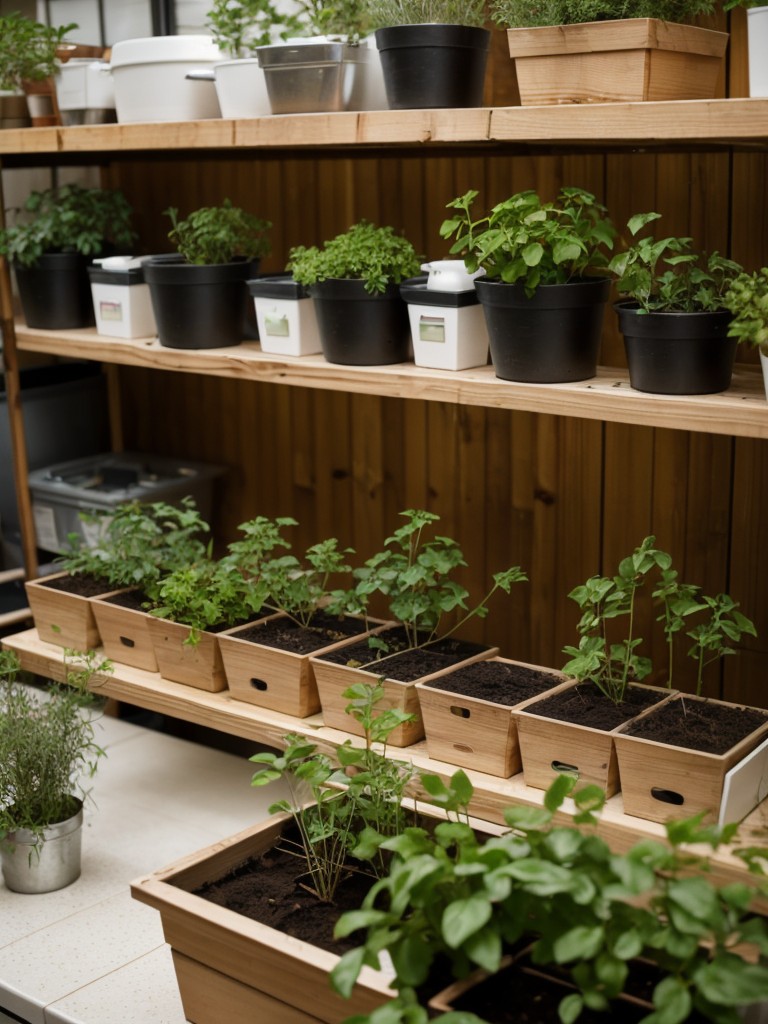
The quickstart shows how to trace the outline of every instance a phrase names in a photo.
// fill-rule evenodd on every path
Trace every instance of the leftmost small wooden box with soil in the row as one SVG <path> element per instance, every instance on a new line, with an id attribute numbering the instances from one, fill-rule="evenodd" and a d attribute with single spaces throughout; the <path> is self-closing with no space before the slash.
<path id="1" fill-rule="evenodd" d="M 41 640 L 58 647 L 88 651 L 101 642 L 91 598 L 117 588 L 91 575 L 56 572 L 25 584 L 27 600 Z"/>

